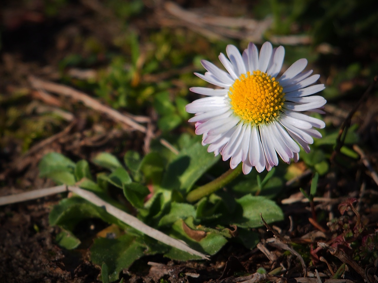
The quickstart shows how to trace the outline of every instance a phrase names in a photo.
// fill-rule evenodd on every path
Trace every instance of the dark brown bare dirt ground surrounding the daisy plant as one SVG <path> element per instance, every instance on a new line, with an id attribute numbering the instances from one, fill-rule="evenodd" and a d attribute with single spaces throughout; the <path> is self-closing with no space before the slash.
<path id="1" fill-rule="evenodd" d="M 201 6 L 200 1 L 178 2 L 186 8 Z M 43 95 L 31 86 L 29 80 L 30 75 L 49 81 L 59 79 L 59 62 L 67 54 L 81 52 L 82 46 L 75 43 L 77 36 L 91 34 L 105 42 L 105 45 L 111 45 L 109 43 L 111 35 L 119 32 L 121 28 L 119 22 L 109 19 L 108 11 L 102 9 L 101 2 L 97 1 L 71 1 L 69 4 L 59 7 L 59 12 L 54 17 L 46 16 L 43 12 L 46 7 L 42 1 L 29 1 L 27 5 L 25 3 L 23 1 L 4 1 L 0 4 L 2 10 L 0 92 L 3 95 L 2 101 L 8 101 L 4 108 L 0 109 L 1 117 L 6 117 L 5 113 L 12 103 L 18 103 L 20 109 L 25 111 L 26 119 L 40 115 L 46 111 L 45 108 L 50 111 L 51 109 L 60 111 L 59 109 L 64 106 L 65 112 L 60 114 L 64 115 L 66 120 L 52 125 L 49 133 L 42 133 L 39 138 L 31 140 L 28 150 L 24 149 L 25 140 L 23 138 L 3 134 L 0 152 L 0 186 L 2 187 L 0 196 L 53 186 L 51 181 L 38 177 L 37 164 L 46 152 L 61 152 L 75 160 L 90 159 L 98 152 L 107 149 L 115 149 L 119 156 L 123 156 L 124 152 L 129 149 L 143 152 L 144 134 L 132 131 L 132 129 L 117 127 L 117 123 L 113 120 L 104 118 L 104 115 L 70 100 L 70 98 Z M 146 5 L 150 8 L 144 12 L 144 20 L 138 17 L 132 18 L 134 27 L 141 33 L 163 25 L 159 18 L 162 8 L 156 8 L 151 3 L 146 1 Z M 216 5 L 211 3 L 206 9 L 214 11 L 217 9 Z M 239 9 L 245 9 L 247 6 L 248 3 L 245 1 L 235 1 L 233 7 L 237 14 Z M 219 14 L 228 14 L 224 7 L 218 7 L 218 9 Z M 105 18 L 106 25 L 102 22 Z M 99 26 L 101 28 L 98 28 Z M 101 60 L 99 58 L 99 62 Z M 12 102 L 11 97 L 16 92 L 22 93 L 23 98 L 15 99 Z M 32 103 L 36 103 L 33 104 L 36 107 L 31 107 Z M 327 112 L 326 119 L 340 125 L 355 103 L 355 100 L 336 102 L 333 113 Z M 361 104 L 360 114 L 355 117 L 354 121 L 361 126 L 359 133 L 363 142 L 371 148 L 371 152 L 367 152 L 367 160 L 370 160 L 373 168 L 376 168 L 378 163 L 376 154 L 378 149 L 377 105 L 376 97 L 368 98 Z M 337 112 L 338 108 L 343 109 L 341 114 Z M 361 113 L 367 115 L 361 115 Z M 88 123 L 85 118 L 88 116 L 96 117 L 94 120 L 97 122 Z M 5 122 L 0 123 L 5 125 Z M 119 148 L 121 143 L 123 147 Z M 333 201 L 320 203 L 317 205 L 317 209 L 321 213 L 339 217 L 338 204 L 349 198 L 356 198 L 356 206 L 361 219 L 363 219 L 363 223 L 366 223 L 366 235 L 375 235 L 376 237 L 376 229 L 378 229 L 376 225 L 378 223 L 376 184 L 370 177 L 370 173 L 366 173 L 366 167 L 360 160 L 353 162 L 353 169 L 341 168 L 337 173 L 328 174 L 321 179 L 321 186 L 326 188 L 323 192 L 324 197 L 329 197 L 331 194 Z M 357 171 L 355 168 L 358 168 Z M 300 181 L 302 185 L 306 185 L 310 181 L 310 177 L 305 175 Z M 295 197 L 297 192 L 298 188 L 287 188 L 281 198 Z M 49 226 L 48 214 L 51 207 L 63 197 L 65 194 L 0 208 L 0 282 L 90 283 L 101 281 L 100 267 L 93 265 L 88 260 L 88 249 L 67 251 L 60 248 L 55 242 L 59 228 Z M 308 222 L 308 218 L 311 217 L 308 203 L 296 202 L 293 205 L 282 207 L 287 220 L 274 227 L 274 231 L 280 231 L 282 238 L 290 237 L 294 243 L 308 243 L 310 246 L 310 243 L 316 243 L 315 239 L 319 239 L 319 235 L 323 240 L 332 236 L 332 231 L 328 229 L 323 231 L 324 228 L 314 227 Z M 353 218 L 352 214 L 349 215 L 349 225 L 353 226 L 356 218 Z M 327 227 L 326 221 L 319 224 Z M 93 220 L 85 223 L 81 232 L 90 234 L 102 228 L 104 228 L 102 223 Z M 262 243 L 273 237 L 272 232 L 266 231 L 265 228 L 256 229 L 256 231 L 260 233 L 263 239 Z M 308 237 L 306 240 L 303 238 L 304 235 Z M 266 247 L 260 246 L 250 251 L 241 245 L 228 244 L 210 261 L 178 262 L 159 255 L 143 257 L 129 269 L 124 270 L 121 277 L 125 282 L 168 281 L 181 283 L 220 282 L 223 280 L 224 283 L 231 283 L 236 282 L 233 279 L 235 276 L 254 274 L 259 267 L 270 271 L 285 266 L 285 277 L 290 278 L 287 281 L 296 282 L 298 280 L 295 278 L 302 278 L 302 267 L 297 257 L 290 255 L 290 252 L 285 252 L 282 247 L 269 245 Z M 316 246 L 313 247 L 316 249 Z M 378 248 L 378 244 L 372 247 L 373 249 Z M 315 274 L 315 270 L 317 270 L 322 276 L 325 275 L 324 278 L 330 278 L 332 273 L 330 269 L 335 270 L 346 262 L 348 267 L 344 278 L 342 278 L 344 281 L 328 282 L 363 282 L 364 276 L 353 269 L 353 264 L 351 265 L 348 261 L 352 258 L 350 252 L 348 251 L 346 256 L 347 261 L 341 260 L 340 257 L 334 257 L 326 251 L 319 252 L 323 260 L 319 258 L 316 264 L 308 267 L 309 274 Z M 373 274 L 378 272 L 377 261 L 364 263 L 360 267 L 371 280 L 374 280 Z M 247 280 L 247 278 L 244 279 Z M 278 281 L 276 277 L 266 278 L 266 280 L 268 279 Z M 284 282 L 286 279 L 280 280 Z M 301 282 L 315 281 L 304 280 Z"/>

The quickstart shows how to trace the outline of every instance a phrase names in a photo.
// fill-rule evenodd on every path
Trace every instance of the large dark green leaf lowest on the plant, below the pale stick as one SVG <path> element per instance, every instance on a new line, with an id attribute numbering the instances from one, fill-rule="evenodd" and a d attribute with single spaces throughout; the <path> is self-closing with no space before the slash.
<path id="1" fill-rule="evenodd" d="M 109 280 L 115 281 L 119 272 L 129 268 L 132 263 L 144 255 L 144 247 L 135 240 L 135 236 L 122 235 L 117 239 L 95 239 L 90 249 L 91 261 L 108 266 Z"/>

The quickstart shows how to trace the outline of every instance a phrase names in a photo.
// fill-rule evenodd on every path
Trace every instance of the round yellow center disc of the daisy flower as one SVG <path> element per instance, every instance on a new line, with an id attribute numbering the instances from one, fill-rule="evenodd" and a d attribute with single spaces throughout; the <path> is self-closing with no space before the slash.
<path id="1" fill-rule="evenodd" d="M 276 78 L 259 70 L 242 74 L 230 87 L 232 109 L 243 121 L 253 125 L 269 123 L 279 117 L 284 96 Z"/>

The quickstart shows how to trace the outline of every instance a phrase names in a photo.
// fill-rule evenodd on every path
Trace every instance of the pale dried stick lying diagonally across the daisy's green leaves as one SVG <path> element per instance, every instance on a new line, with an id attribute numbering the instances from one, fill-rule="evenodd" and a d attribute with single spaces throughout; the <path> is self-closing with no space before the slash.
<path id="1" fill-rule="evenodd" d="M 109 214 L 118 218 L 119 220 L 126 223 L 127 225 L 130 225 L 131 227 L 137 229 L 138 231 L 141 231 L 143 234 L 150 236 L 151 238 L 161 241 L 162 243 L 169 245 L 171 247 L 180 249 L 181 251 L 188 252 L 189 254 L 197 255 L 201 257 L 202 259 L 206 259 L 206 260 L 209 259 L 208 256 L 206 256 L 205 254 L 195 251 L 194 249 L 187 246 L 186 243 L 183 243 L 182 241 L 169 237 L 163 232 L 160 232 L 144 224 L 138 218 L 130 214 L 127 214 L 126 212 L 122 211 L 121 209 L 116 208 L 115 206 L 110 205 L 109 203 L 105 202 L 104 200 L 99 198 L 97 195 L 95 195 L 93 192 L 86 191 L 84 189 L 74 187 L 74 186 L 68 186 L 67 189 L 81 196 L 82 198 L 85 198 L 91 203 L 104 208 L 105 211 L 108 212 Z"/>

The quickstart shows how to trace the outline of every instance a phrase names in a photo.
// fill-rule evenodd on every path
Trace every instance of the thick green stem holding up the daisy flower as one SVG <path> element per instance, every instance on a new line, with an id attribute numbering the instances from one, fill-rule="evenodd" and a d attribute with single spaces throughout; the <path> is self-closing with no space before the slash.
<path id="1" fill-rule="evenodd" d="M 242 172 L 242 166 L 242 162 L 240 162 L 240 164 L 235 169 L 229 169 L 227 172 L 223 173 L 215 180 L 212 180 L 210 183 L 207 183 L 206 185 L 200 186 L 197 189 L 189 192 L 186 200 L 189 202 L 194 202 L 202 197 L 205 197 L 206 195 L 211 195 L 213 192 L 218 191 L 218 189 L 220 188 L 223 188 Z"/>

